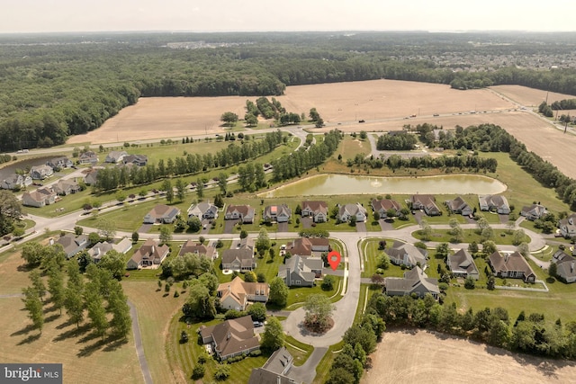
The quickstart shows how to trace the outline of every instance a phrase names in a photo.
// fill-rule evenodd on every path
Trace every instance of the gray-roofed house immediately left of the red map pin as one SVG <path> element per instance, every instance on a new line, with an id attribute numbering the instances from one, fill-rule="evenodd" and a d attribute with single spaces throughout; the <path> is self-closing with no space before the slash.
<path id="1" fill-rule="evenodd" d="M 278 268 L 278 277 L 284 279 L 288 287 L 313 287 L 314 280 L 322 276 L 324 262 L 320 257 L 295 255 L 286 259 Z"/>

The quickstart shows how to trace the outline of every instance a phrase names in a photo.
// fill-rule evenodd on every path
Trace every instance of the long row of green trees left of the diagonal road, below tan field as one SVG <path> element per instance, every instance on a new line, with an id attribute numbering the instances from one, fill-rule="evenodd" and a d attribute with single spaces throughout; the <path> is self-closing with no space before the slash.
<path id="1" fill-rule="evenodd" d="M 187 154 L 158 160 L 157 164 L 145 166 L 132 166 L 130 168 L 107 167 L 98 171 L 94 190 L 112 191 L 128 185 L 141 185 L 152 183 L 156 180 L 183 174 L 197 174 L 218 167 L 226 167 L 245 162 L 251 158 L 272 152 L 275 147 L 284 142 L 284 136 L 280 130 L 268 132 L 262 140 L 243 141 L 241 145 L 235 143 L 221 149 L 215 154 L 207 153 Z"/>

